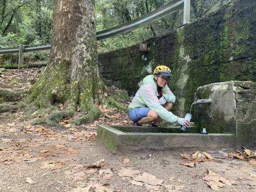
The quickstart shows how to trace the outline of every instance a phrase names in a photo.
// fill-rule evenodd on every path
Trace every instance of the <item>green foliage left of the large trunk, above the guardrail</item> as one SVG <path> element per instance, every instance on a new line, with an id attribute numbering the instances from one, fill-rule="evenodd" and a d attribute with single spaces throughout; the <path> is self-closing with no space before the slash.
<path id="1" fill-rule="evenodd" d="M 51 41 L 52 0 L 0 0 L 0 47 Z"/>

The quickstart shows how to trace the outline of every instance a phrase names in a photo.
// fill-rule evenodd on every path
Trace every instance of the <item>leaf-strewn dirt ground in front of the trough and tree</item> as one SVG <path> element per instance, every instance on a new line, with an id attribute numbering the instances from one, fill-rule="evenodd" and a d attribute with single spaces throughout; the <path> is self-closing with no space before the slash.
<path id="1" fill-rule="evenodd" d="M 7 70 L 0 77 L 0 87 L 28 89 L 29 79 L 39 75 L 38 69 Z M 98 124 L 132 122 L 116 108 L 102 106 L 102 110 L 107 115 L 93 124 L 70 127 L 68 119 L 60 122 L 66 129 L 21 126 L 38 118 L 36 113 L 0 114 L 0 191 L 213 190 L 209 186 L 219 191 L 256 191 L 256 166 L 220 153 L 194 167 L 180 164 L 186 162 L 180 154 L 195 152 L 188 149 L 111 154 L 95 141 Z M 96 162 L 99 167 L 86 168 Z M 213 178 L 208 181 L 207 170 Z"/>

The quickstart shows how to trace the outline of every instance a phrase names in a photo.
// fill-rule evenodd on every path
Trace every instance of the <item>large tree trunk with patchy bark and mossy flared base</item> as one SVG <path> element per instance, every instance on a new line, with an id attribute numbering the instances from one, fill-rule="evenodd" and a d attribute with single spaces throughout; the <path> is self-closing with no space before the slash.
<path id="1" fill-rule="evenodd" d="M 55 0 L 51 61 L 31 88 L 30 103 L 38 108 L 62 103 L 66 111 L 78 105 L 91 118 L 99 115 L 94 103 L 103 102 L 103 82 L 94 20 L 94 0 Z"/>

